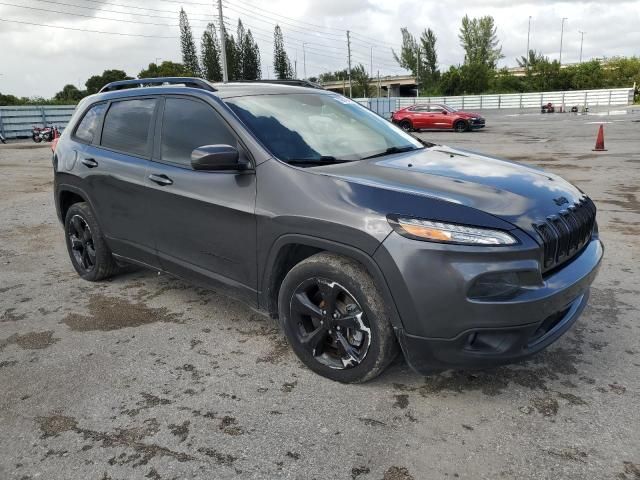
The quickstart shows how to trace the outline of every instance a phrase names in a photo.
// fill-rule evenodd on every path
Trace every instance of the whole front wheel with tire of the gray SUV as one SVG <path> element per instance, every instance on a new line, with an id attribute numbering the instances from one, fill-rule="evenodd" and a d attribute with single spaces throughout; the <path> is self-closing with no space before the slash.
<path id="1" fill-rule="evenodd" d="M 331 380 L 371 380 L 398 352 L 382 296 L 349 258 L 319 253 L 297 264 L 282 282 L 278 309 L 298 358 Z"/>

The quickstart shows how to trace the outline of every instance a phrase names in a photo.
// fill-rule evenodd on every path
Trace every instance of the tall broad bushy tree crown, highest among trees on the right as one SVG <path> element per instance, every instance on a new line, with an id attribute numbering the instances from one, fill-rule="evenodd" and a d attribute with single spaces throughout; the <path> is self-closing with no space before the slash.
<path id="1" fill-rule="evenodd" d="M 498 60 L 504 57 L 498 40 L 497 27 L 491 16 L 470 19 L 465 15 L 462 18 L 458 38 L 464 48 L 466 65 L 484 65 L 495 70 Z"/>

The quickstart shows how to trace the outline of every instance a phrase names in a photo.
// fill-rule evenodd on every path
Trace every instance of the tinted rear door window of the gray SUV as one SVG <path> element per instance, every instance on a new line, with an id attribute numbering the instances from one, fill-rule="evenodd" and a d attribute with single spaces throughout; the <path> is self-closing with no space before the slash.
<path id="1" fill-rule="evenodd" d="M 148 155 L 155 107 L 154 99 L 112 103 L 104 119 L 101 145 L 131 155 Z"/>

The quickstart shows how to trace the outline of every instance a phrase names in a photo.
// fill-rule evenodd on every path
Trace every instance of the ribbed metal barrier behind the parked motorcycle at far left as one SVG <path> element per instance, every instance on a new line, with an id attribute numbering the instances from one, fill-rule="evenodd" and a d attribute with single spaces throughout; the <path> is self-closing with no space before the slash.
<path id="1" fill-rule="evenodd" d="M 75 109 L 75 105 L 0 107 L 0 133 L 5 138 L 30 137 L 34 125 L 55 125 L 62 132 Z"/>

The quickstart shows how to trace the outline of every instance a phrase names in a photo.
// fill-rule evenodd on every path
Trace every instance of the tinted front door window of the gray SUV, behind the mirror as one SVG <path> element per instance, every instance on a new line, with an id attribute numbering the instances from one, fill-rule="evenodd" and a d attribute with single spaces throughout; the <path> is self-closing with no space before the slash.
<path id="1" fill-rule="evenodd" d="M 237 142 L 231 130 L 209 105 L 186 98 L 167 98 L 162 120 L 161 158 L 191 165 L 191 152 L 204 145 Z"/>

